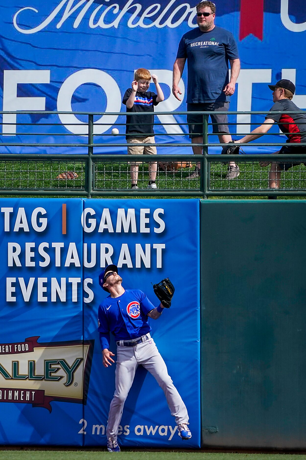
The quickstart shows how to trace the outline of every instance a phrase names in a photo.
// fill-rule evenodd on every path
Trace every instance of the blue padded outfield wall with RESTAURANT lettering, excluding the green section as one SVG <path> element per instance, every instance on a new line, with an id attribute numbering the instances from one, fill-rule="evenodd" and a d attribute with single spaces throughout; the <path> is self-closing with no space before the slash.
<path id="1" fill-rule="evenodd" d="M 97 309 L 107 293 L 98 274 L 115 263 L 123 286 L 156 306 L 151 282 L 169 276 L 176 286 L 170 310 L 151 323 L 189 412 L 184 447 L 198 448 L 199 200 L 0 201 L 0 444 L 106 445 L 114 366 L 102 366 Z M 120 433 L 123 446 L 182 447 L 163 391 L 142 367 Z"/>

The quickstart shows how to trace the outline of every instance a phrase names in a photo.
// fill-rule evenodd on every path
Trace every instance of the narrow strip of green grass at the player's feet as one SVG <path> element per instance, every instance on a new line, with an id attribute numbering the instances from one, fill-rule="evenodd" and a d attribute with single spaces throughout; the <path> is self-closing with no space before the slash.
<path id="1" fill-rule="evenodd" d="M 121 451 L 122 460 L 304 460 L 300 454 L 225 454 L 205 452 L 133 452 Z M 101 451 L 57 451 L 57 450 L 6 450 L 0 451 L 0 460 L 110 460 L 116 454 Z"/>

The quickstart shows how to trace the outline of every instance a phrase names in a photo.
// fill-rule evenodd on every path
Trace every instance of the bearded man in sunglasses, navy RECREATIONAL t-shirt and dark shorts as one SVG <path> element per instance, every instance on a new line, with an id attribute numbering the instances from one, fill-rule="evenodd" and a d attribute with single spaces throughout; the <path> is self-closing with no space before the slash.
<path id="1" fill-rule="evenodd" d="M 192 29 L 181 38 L 176 61 L 173 66 L 172 92 L 176 99 L 181 101 L 178 86 L 187 60 L 187 111 L 211 111 L 213 133 L 217 133 L 220 142 L 232 140 L 227 126 L 226 112 L 229 98 L 235 91 L 235 83 L 239 75 L 240 61 L 237 44 L 230 32 L 214 24 L 215 4 L 211 1 L 201 1 L 196 6 L 198 28 Z M 229 80 L 228 61 L 231 64 L 231 79 Z M 203 115 L 187 115 L 189 137 L 193 144 L 203 144 Z M 215 136 L 214 136 L 215 142 Z M 193 153 L 202 154 L 203 149 L 193 145 Z M 199 176 L 198 169 L 189 178 Z M 239 176 L 239 167 L 234 162 L 229 164 L 227 179 Z"/>

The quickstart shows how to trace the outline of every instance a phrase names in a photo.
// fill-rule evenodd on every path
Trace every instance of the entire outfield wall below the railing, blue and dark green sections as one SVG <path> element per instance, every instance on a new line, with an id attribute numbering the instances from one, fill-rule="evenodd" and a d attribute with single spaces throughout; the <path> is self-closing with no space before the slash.
<path id="1" fill-rule="evenodd" d="M 102 366 L 97 279 L 113 262 L 155 305 L 151 282 L 175 284 L 151 325 L 193 433 L 181 441 L 139 367 L 122 446 L 305 449 L 305 207 L 1 199 L 0 444 L 105 448 L 114 366 Z"/>

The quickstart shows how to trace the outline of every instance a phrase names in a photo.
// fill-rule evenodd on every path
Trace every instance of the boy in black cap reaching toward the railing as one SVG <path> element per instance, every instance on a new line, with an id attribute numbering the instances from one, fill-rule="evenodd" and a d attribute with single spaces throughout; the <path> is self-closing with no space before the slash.
<path id="1" fill-rule="evenodd" d="M 279 80 L 275 85 L 268 85 L 273 91 L 273 102 L 270 112 L 266 115 L 264 123 L 255 128 L 244 138 L 236 140 L 235 144 L 247 143 L 254 139 L 260 138 L 272 127 L 274 122 L 278 123 L 279 129 L 284 132 L 288 138 L 288 144 L 300 144 L 306 142 L 306 114 L 302 112 L 293 102 L 292 98 L 295 93 L 295 85 L 290 80 Z M 283 113 L 273 113 L 281 111 Z M 295 111 L 295 114 L 286 114 L 286 111 Z M 278 150 L 279 154 L 306 154 L 306 146 L 300 145 L 283 145 Z M 267 166 L 271 161 L 260 161 L 261 167 Z M 278 189 L 280 186 L 281 171 L 288 171 L 289 168 L 300 163 L 276 163 L 272 162 L 269 172 L 269 188 Z M 305 163 L 304 163 L 305 164 Z M 269 196 L 270 199 L 276 199 L 276 196 Z"/>

